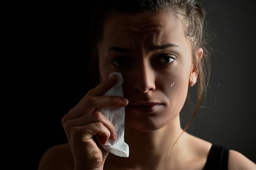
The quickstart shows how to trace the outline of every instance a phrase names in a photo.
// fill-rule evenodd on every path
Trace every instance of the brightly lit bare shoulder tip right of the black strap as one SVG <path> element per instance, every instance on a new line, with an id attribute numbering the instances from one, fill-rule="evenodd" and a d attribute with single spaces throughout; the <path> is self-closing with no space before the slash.
<path id="1" fill-rule="evenodd" d="M 229 150 L 229 170 L 256 170 L 256 164 L 236 150 Z"/>

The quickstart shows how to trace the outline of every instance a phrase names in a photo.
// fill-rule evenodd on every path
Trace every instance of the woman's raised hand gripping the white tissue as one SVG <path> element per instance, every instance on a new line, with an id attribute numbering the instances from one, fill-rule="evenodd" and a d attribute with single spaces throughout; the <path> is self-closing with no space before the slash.
<path id="1" fill-rule="evenodd" d="M 108 151 L 99 142 L 105 144 L 109 138 L 117 138 L 115 126 L 97 111 L 97 108 L 123 107 L 128 104 L 125 98 L 122 102 L 117 96 L 102 96 L 117 82 L 116 75 L 111 78 L 90 90 L 62 119 L 74 157 L 74 170 L 103 170 Z"/>

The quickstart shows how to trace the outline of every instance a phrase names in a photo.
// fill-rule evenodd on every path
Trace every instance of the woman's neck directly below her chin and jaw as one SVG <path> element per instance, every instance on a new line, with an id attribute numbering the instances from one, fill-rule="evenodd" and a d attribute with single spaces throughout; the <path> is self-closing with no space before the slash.
<path id="1" fill-rule="evenodd" d="M 183 130 L 180 127 L 180 121 L 173 121 L 167 126 L 154 131 L 139 131 L 130 127 L 126 127 L 125 141 L 130 147 L 130 156 L 155 155 L 164 156 L 169 153 L 169 150 L 179 139 Z M 146 159 L 146 157 L 145 157 Z"/>

